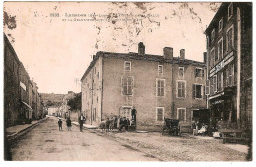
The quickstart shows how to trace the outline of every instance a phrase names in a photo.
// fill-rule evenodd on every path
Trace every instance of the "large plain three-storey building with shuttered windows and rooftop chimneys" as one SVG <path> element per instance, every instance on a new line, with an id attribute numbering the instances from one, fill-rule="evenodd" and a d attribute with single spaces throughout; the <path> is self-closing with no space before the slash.
<path id="1" fill-rule="evenodd" d="M 190 125 L 193 111 L 206 107 L 205 63 L 185 59 L 185 50 L 173 57 L 166 47 L 162 55 L 98 52 L 81 78 L 82 113 L 87 123 L 98 125 L 111 115 L 131 118 L 137 110 L 138 129 L 160 129 L 165 118 Z"/>

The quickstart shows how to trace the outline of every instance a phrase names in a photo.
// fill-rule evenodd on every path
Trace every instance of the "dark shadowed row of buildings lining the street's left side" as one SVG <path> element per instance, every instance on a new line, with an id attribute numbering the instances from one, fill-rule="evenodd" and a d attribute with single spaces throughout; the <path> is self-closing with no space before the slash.
<path id="1" fill-rule="evenodd" d="M 36 83 L 35 83 L 36 84 Z M 38 88 L 38 87 L 37 87 Z M 4 121 L 5 127 L 30 123 L 37 113 L 33 101 L 38 92 L 33 91 L 24 65 L 4 34 Z"/>

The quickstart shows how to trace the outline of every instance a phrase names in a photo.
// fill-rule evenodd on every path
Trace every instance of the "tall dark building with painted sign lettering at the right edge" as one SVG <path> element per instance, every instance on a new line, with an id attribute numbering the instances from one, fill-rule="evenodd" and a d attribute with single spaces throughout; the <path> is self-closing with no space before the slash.
<path id="1" fill-rule="evenodd" d="M 227 128 L 251 128 L 252 3 L 222 3 L 205 34 L 212 120 Z"/>

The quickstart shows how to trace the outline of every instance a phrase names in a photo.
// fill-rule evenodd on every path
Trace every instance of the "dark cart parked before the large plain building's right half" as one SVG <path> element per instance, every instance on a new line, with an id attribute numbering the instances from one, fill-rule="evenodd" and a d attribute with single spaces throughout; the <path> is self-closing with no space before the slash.
<path id="1" fill-rule="evenodd" d="M 181 135 L 181 129 L 179 125 L 179 120 L 176 119 L 164 119 L 164 126 L 162 127 L 162 135 L 168 133 L 169 135 Z"/>

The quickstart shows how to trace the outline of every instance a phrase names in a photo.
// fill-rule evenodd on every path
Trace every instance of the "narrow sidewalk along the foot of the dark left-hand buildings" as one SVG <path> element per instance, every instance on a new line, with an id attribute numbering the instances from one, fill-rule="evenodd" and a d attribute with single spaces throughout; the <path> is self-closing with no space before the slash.
<path id="1" fill-rule="evenodd" d="M 31 124 L 15 125 L 15 126 L 12 126 L 12 127 L 8 127 L 8 128 L 6 128 L 7 138 L 9 140 L 15 139 L 16 137 L 18 137 L 21 134 L 27 132 L 27 130 L 34 127 L 38 123 L 40 123 L 42 121 L 45 121 L 46 119 L 48 119 L 48 117 L 42 118 L 40 120 L 32 121 Z"/>

